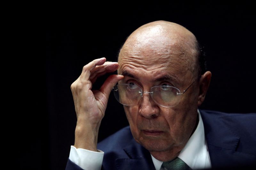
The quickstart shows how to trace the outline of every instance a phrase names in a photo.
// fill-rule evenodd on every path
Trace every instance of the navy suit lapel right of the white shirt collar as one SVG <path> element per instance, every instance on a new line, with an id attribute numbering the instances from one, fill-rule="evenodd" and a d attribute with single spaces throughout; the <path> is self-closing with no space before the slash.
<path id="1" fill-rule="evenodd" d="M 232 127 L 232 122 L 228 121 L 227 116 L 216 118 L 204 111 L 200 113 L 212 168 L 243 165 L 255 160 L 255 157 L 250 154 L 236 152 L 240 137 L 229 128 Z"/>

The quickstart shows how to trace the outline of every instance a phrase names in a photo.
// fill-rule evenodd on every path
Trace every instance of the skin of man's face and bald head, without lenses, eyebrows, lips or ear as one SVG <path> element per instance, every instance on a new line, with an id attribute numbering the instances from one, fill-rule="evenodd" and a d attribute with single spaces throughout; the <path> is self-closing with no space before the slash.
<path id="1" fill-rule="evenodd" d="M 185 90 L 196 79 L 195 42 L 191 32 L 175 23 L 156 21 L 141 26 L 128 37 L 118 57 L 118 74 L 127 71 L 139 79 L 125 76 L 120 82 L 134 79 L 148 92 L 152 86 L 164 83 L 153 79 L 170 75 L 178 80 L 173 84 Z M 135 141 L 158 160 L 177 157 L 196 127 L 199 92 L 195 82 L 175 107 L 158 106 L 148 93 L 143 94 L 138 105 L 124 106 Z M 163 133 L 148 136 L 143 130 Z"/>

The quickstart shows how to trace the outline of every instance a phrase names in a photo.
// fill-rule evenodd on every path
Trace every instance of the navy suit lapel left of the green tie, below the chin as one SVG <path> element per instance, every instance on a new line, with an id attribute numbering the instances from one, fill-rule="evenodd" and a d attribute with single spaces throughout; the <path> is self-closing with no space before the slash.
<path id="1" fill-rule="evenodd" d="M 116 167 L 119 170 L 125 169 L 154 169 L 155 166 L 148 150 L 136 143 L 134 140 L 124 148 L 129 159 L 116 159 Z"/>

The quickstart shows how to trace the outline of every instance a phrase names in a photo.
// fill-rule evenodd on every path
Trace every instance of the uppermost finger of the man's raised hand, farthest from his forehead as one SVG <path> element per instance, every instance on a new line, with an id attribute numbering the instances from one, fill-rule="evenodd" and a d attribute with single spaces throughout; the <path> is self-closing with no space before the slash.
<path id="1" fill-rule="evenodd" d="M 106 62 L 106 58 L 99 58 L 99 59 L 95 59 L 92 62 L 86 64 L 83 67 L 82 73 L 81 73 L 81 77 L 85 78 L 85 79 L 89 79 L 90 74 L 91 74 L 91 70 L 93 70 L 97 65 L 102 65 Z"/>

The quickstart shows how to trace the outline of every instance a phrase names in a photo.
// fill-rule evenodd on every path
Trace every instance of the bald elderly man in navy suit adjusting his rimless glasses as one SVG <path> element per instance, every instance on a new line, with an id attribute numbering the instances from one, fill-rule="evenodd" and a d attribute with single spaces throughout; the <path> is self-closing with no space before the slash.
<path id="1" fill-rule="evenodd" d="M 193 33 L 175 23 L 155 21 L 128 37 L 118 63 L 100 58 L 85 65 L 71 85 L 77 123 L 66 169 L 204 169 L 253 164 L 255 114 L 199 111 L 212 75 L 199 61 Z M 91 90 L 99 76 L 115 70 L 118 75 L 108 77 L 99 91 Z M 111 90 L 124 105 L 130 126 L 97 146 Z"/>

